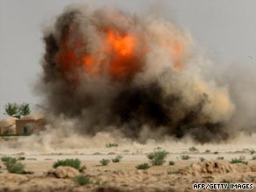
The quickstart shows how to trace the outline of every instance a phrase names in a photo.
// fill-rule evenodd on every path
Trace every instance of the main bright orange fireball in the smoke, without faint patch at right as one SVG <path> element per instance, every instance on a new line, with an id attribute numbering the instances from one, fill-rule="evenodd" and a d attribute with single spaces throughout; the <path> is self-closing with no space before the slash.
<path id="1" fill-rule="evenodd" d="M 105 32 L 102 38 L 103 49 L 99 49 L 96 53 L 79 52 L 86 44 L 73 39 L 71 34 L 65 36 L 60 44 L 60 51 L 57 53 L 56 60 L 59 63 L 63 74 L 75 72 L 79 67 L 89 75 L 100 75 L 107 73 L 111 78 L 120 79 L 128 78 L 139 70 L 141 61 L 135 53 L 136 37 L 132 34 L 120 34 L 116 31 Z M 72 41 L 71 41 L 72 42 Z M 97 54 L 105 55 L 103 60 L 98 60 Z M 106 69 L 105 72 L 103 69 Z"/>

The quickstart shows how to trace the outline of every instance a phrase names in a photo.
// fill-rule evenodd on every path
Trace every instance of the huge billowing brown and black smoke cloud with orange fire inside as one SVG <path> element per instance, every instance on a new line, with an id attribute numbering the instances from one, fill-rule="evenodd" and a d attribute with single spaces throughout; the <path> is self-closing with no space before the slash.
<path id="1" fill-rule="evenodd" d="M 68 8 L 44 39 L 47 104 L 54 115 L 75 119 L 75 131 L 228 137 L 229 93 L 203 76 L 192 39 L 172 23 Z"/>

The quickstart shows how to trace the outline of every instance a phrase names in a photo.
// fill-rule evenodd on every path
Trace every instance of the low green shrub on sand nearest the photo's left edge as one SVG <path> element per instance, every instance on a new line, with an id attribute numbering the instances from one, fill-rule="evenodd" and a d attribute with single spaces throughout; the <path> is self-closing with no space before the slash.
<path id="1" fill-rule="evenodd" d="M 26 174 L 24 168 L 25 165 L 19 163 L 16 158 L 13 157 L 2 157 L 4 166 L 7 168 L 8 172 L 12 174 Z"/>

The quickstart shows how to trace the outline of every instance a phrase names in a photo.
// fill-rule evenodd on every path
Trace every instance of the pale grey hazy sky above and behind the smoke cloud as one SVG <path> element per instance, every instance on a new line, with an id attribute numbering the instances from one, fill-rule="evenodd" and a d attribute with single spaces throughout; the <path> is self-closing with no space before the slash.
<path id="1" fill-rule="evenodd" d="M 44 53 L 42 28 L 72 0 L 0 0 L 0 117 L 8 102 L 39 103 L 32 86 Z M 154 11 L 193 34 L 219 63 L 256 65 L 255 0 L 91 0 L 132 13 Z M 256 75 L 256 71 L 255 71 Z"/>

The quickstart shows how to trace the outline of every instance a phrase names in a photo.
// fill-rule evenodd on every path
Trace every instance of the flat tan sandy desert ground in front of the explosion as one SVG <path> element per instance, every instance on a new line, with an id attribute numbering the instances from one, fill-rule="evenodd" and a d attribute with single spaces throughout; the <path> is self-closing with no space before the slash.
<path id="1" fill-rule="evenodd" d="M 1 139 L 0 145 L 16 142 L 17 138 Z M 33 145 L 33 144 L 32 144 Z M 189 150 L 188 145 L 158 145 L 149 146 L 117 146 L 95 147 L 84 149 L 55 150 L 54 152 L 24 152 L 1 150 L 0 158 L 4 156 L 25 157 L 20 160 L 25 164 L 25 170 L 32 174 L 10 174 L 3 162 L 0 162 L 0 191 L 16 192 L 65 192 L 65 191 L 109 191 L 109 192 L 150 192 L 150 191 L 193 191 L 193 183 L 253 183 L 256 186 L 256 160 L 252 160 L 251 145 L 196 145 L 197 150 Z M 168 152 L 166 162 L 161 166 L 151 166 L 146 154 L 154 150 Z M 102 159 L 113 159 L 122 155 L 120 162 L 102 166 Z M 188 160 L 182 160 L 182 155 L 188 155 Z M 53 164 L 57 160 L 79 159 L 82 161 L 82 173 L 90 179 L 89 184 L 81 186 L 72 177 L 78 171 L 62 170 L 56 176 Z M 203 159 L 204 160 L 203 160 Z M 232 159 L 243 159 L 248 164 L 231 164 Z M 169 165 L 169 161 L 174 165 Z M 137 165 L 148 162 L 151 167 L 138 170 Z M 66 173 L 66 172 L 67 173 Z M 197 190 L 203 191 L 256 191 L 251 190 Z"/>

